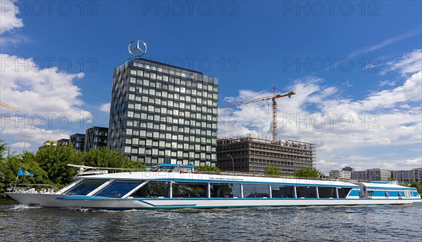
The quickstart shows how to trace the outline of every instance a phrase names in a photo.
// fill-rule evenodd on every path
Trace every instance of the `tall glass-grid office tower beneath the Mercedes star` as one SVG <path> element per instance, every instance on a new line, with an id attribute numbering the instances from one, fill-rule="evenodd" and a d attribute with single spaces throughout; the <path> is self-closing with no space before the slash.
<path id="1" fill-rule="evenodd" d="M 217 162 L 218 79 L 146 59 L 115 68 L 108 146 L 146 165 Z"/>

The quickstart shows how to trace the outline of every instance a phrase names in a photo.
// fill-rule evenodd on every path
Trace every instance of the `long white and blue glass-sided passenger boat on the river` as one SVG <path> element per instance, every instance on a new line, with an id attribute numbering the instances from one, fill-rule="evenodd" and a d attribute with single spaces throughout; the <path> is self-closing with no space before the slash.
<path id="1" fill-rule="evenodd" d="M 70 166 L 78 167 L 79 173 L 63 189 L 13 184 L 6 194 L 20 203 L 43 207 L 111 210 L 422 202 L 416 188 L 398 184 L 198 173 L 194 166 L 175 164 L 143 171 Z M 112 173 L 113 170 L 120 172 Z"/>

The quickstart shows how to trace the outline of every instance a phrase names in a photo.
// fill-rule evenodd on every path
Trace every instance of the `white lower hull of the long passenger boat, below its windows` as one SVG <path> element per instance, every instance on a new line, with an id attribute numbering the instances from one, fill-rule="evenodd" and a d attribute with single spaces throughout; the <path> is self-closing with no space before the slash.
<path id="1" fill-rule="evenodd" d="M 65 194 L 6 193 L 23 204 L 53 208 L 170 209 L 282 206 L 367 206 L 421 203 L 422 199 L 110 199 Z"/>

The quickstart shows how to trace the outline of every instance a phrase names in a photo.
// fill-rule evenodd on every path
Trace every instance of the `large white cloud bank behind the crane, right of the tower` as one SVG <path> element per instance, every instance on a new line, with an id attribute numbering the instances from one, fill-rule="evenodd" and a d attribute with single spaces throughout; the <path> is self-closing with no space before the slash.
<path id="1" fill-rule="evenodd" d="M 321 79 L 295 81 L 293 90 L 296 95 L 291 99 L 279 98 L 278 102 L 278 137 L 300 137 L 316 142 L 317 166 L 321 169 L 333 169 L 337 166 L 364 168 L 399 168 L 404 159 L 398 156 L 362 152 L 369 147 L 388 150 L 389 146 L 421 144 L 422 121 L 422 70 L 416 68 L 421 59 L 420 51 L 403 56 L 397 62 L 391 62 L 395 71 L 404 81 L 402 85 L 379 92 L 369 93 L 360 100 L 350 100 L 335 96 L 338 89 L 324 86 Z M 417 58 L 416 58 L 417 57 Z M 407 60 L 411 59 L 411 60 Z M 409 68 L 409 63 L 414 67 Z M 257 95 L 248 90 L 248 96 L 240 92 L 231 100 L 243 100 Z M 312 109 L 309 107 L 312 105 Z M 271 102 L 255 102 L 219 110 L 219 137 L 255 133 L 271 137 L 272 121 Z M 223 117 L 234 115 L 236 126 L 227 127 Z M 341 119 L 340 119 L 341 118 Z M 321 121 L 324 119 L 324 123 Z M 361 151 L 362 150 L 362 151 Z M 420 149 L 418 149 L 421 153 Z M 350 153 L 349 153 L 350 152 Z M 357 155 L 352 155 L 352 152 Z M 414 159 L 414 153 L 409 154 Z M 408 159 L 408 158 L 406 158 Z M 409 158 L 410 159 L 410 158 Z M 408 162 L 409 163 L 409 162 Z M 411 168 L 407 166 L 408 168 Z"/>

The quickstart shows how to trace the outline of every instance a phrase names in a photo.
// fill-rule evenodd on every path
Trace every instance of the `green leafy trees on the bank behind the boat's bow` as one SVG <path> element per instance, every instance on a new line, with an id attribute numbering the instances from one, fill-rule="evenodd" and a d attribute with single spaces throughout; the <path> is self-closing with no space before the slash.
<path id="1" fill-rule="evenodd" d="M 121 152 L 117 150 L 111 152 L 106 147 L 90 149 L 89 152 L 75 152 L 72 145 L 46 145 L 37 152 L 4 157 L 6 149 L 7 144 L 0 140 L 0 197 L 5 196 L 4 192 L 9 184 L 15 183 L 19 168 L 27 170 L 34 176 L 19 176 L 18 183 L 52 184 L 57 188 L 72 182 L 72 177 L 77 174 L 77 168 L 72 168 L 68 164 L 107 168 L 145 168 L 137 161 L 130 161 Z"/>

